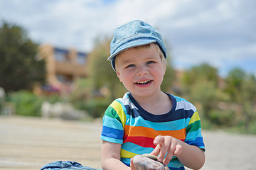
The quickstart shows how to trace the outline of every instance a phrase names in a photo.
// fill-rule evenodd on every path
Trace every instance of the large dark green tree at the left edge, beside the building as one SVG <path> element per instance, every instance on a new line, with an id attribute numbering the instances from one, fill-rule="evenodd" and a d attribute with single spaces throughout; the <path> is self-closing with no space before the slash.
<path id="1" fill-rule="evenodd" d="M 45 62 L 37 60 L 38 45 L 20 26 L 2 23 L 0 27 L 0 86 L 6 91 L 30 89 L 45 81 Z"/>

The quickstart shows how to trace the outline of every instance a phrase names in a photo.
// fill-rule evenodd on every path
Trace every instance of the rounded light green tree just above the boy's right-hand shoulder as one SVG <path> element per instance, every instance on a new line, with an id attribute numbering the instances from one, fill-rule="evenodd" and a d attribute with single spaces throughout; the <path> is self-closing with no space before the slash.
<path id="1" fill-rule="evenodd" d="M 183 77 L 183 91 L 193 103 L 201 103 L 203 116 L 210 121 L 211 113 L 218 108 L 218 103 L 228 100 L 218 84 L 218 69 L 209 64 L 192 67 Z"/>

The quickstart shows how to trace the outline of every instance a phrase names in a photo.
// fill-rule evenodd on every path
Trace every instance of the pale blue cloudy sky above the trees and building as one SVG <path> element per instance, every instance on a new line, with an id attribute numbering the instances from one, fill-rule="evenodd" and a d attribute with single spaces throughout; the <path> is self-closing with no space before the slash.
<path id="1" fill-rule="evenodd" d="M 0 1 L 1 22 L 22 26 L 41 45 L 80 52 L 136 19 L 159 30 L 176 69 L 208 63 L 223 77 L 234 68 L 256 76 L 255 0 Z"/>

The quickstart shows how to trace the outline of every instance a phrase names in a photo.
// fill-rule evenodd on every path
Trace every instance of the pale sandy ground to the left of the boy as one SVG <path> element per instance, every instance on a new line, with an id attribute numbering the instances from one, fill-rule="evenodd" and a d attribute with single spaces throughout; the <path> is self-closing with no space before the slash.
<path id="1" fill-rule="evenodd" d="M 100 123 L 0 117 L 0 169 L 69 160 L 100 168 Z"/>

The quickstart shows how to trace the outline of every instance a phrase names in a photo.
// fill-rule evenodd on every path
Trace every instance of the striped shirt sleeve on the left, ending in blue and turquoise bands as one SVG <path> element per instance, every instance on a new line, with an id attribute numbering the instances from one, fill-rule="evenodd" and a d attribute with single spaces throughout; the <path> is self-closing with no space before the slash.
<path id="1" fill-rule="evenodd" d="M 123 118 L 122 105 L 116 100 L 105 111 L 100 139 L 122 144 L 124 137 Z"/>

